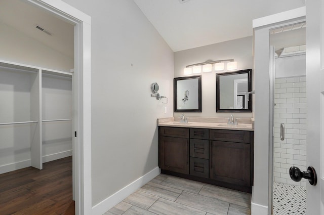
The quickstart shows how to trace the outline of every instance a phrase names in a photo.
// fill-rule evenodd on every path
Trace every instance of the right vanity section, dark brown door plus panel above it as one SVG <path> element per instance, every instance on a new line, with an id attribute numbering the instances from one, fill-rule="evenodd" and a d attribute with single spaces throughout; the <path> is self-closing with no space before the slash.
<path id="1" fill-rule="evenodd" d="M 248 131 L 210 131 L 210 178 L 219 182 L 250 186 L 251 140 Z"/>

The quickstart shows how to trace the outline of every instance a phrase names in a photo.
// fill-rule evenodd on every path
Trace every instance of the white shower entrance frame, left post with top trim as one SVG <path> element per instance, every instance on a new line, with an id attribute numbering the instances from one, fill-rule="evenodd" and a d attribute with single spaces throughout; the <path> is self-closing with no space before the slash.
<path id="1" fill-rule="evenodd" d="M 272 214 L 273 80 L 270 65 L 270 29 L 306 20 L 306 7 L 253 20 L 255 82 L 254 186 L 251 214 Z M 266 88 L 264 86 L 267 86 Z M 266 195 L 265 195 L 266 194 Z"/>

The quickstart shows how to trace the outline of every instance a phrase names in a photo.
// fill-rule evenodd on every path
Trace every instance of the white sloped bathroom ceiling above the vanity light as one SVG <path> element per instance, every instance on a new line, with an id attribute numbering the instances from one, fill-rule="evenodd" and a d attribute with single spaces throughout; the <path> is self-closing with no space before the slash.
<path id="1" fill-rule="evenodd" d="M 305 6 L 305 0 L 134 2 L 174 52 L 252 36 L 253 19 Z"/>

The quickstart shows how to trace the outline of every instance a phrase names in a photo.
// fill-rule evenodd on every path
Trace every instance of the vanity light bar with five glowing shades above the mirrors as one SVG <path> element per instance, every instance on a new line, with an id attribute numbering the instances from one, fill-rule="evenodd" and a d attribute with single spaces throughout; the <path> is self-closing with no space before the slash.
<path id="1" fill-rule="evenodd" d="M 225 64 L 224 62 L 227 63 L 227 70 L 235 70 L 237 69 L 237 62 L 234 61 L 234 59 L 227 59 L 227 60 L 217 60 L 217 61 L 212 61 L 208 60 L 203 63 L 195 63 L 186 66 L 183 70 L 183 74 L 185 75 L 190 75 L 190 74 L 199 74 L 201 73 L 201 66 L 203 66 L 203 72 L 211 72 L 213 71 L 213 65 L 214 65 L 214 70 L 215 71 L 222 71 L 224 70 Z"/>

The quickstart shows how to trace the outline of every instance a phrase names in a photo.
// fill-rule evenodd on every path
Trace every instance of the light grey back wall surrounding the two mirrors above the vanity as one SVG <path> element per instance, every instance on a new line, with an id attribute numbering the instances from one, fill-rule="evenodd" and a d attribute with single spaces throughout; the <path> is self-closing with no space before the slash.
<path id="1" fill-rule="evenodd" d="M 204 47 L 175 52 L 174 77 L 183 77 L 187 65 L 207 60 L 234 59 L 237 70 L 252 69 L 252 36 L 220 42 Z M 224 72 L 224 71 L 222 71 Z M 216 75 L 215 71 L 201 74 L 201 113 L 185 113 L 186 116 L 228 117 L 230 113 L 216 113 Z M 180 116 L 182 113 L 174 113 Z M 253 117 L 253 113 L 234 113 L 234 117 Z"/>

